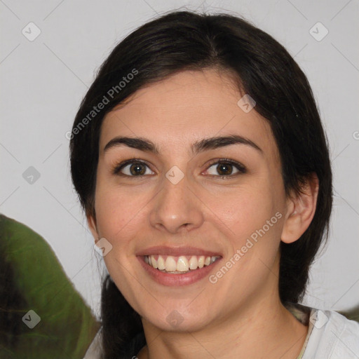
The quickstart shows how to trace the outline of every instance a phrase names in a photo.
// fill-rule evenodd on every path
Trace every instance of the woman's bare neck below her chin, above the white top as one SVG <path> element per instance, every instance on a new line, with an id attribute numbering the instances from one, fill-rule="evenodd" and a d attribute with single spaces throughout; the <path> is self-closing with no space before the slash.
<path id="1" fill-rule="evenodd" d="M 163 332 L 144 320 L 147 346 L 139 359 L 266 358 L 296 359 L 308 327 L 273 293 L 270 301 L 251 303 L 238 316 L 222 318 L 196 332 Z M 268 297 L 267 297 L 268 298 Z"/>

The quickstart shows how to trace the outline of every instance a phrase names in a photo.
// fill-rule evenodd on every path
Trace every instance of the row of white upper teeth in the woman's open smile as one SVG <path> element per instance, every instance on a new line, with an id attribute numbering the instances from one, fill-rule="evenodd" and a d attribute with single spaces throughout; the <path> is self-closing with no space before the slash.
<path id="1" fill-rule="evenodd" d="M 180 256 L 172 255 L 145 255 L 144 262 L 153 266 L 155 269 L 167 272 L 187 272 L 203 266 L 209 266 L 218 256 L 205 257 L 204 255 Z"/>

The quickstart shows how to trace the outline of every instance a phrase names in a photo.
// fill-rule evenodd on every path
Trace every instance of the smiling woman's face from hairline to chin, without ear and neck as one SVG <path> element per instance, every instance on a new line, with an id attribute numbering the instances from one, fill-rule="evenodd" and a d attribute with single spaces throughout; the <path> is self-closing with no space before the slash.
<path id="1" fill-rule="evenodd" d="M 213 69 L 182 72 L 104 118 L 90 227 L 112 245 L 104 262 L 119 290 L 161 330 L 210 327 L 278 297 L 280 159 L 243 95 Z"/>

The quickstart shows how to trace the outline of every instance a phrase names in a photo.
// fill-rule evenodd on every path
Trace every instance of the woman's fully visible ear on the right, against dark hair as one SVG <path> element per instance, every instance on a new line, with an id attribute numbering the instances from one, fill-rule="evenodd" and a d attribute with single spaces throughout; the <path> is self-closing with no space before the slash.
<path id="1" fill-rule="evenodd" d="M 308 229 L 316 212 L 319 180 L 316 173 L 306 179 L 299 194 L 287 198 L 287 213 L 281 240 L 293 243 Z"/>

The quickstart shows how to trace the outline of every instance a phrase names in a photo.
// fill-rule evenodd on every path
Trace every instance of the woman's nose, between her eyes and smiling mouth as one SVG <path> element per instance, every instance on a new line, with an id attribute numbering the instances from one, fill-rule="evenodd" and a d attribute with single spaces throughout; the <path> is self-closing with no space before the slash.
<path id="1" fill-rule="evenodd" d="M 184 176 L 177 184 L 172 184 L 167 178 L 163 182 L 149 214 L 151 226 L 172 234 L 201 226 L 202 202 L 194 194 L 194 189 L 189 187 L 187 177 Z"/>

